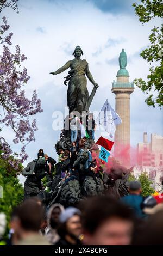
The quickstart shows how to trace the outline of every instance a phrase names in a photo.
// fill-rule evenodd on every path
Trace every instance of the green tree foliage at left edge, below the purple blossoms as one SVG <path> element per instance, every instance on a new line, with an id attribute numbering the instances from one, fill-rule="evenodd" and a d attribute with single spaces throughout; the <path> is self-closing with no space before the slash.
<path id="1" fill-rule="evenodd" d="M 0 155 L 0 186 L 3 188 L 3 198 L 0 198 L 0 212 L 4 212 L 7 216 L 8 223 L 12 209 L 23 200 L 23 186 L 17 178 L 17 175 L 20 174 L 21 171 L 21 164 L 18 169 L 15 170 L 10 166 L 8 160 L 2 159 Z"/>

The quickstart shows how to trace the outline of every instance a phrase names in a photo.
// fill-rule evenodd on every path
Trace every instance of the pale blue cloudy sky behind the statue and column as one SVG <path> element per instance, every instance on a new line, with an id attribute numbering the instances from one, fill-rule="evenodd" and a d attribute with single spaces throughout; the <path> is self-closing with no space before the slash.
<path id="1" fill-rule="evenodd" d="M 93 78 L 99 88 L 93 99 L 91 111 L 99 111 L 108 99 L 115 107 L 115 95 L 111 93 L 111 83 L 116 80 L 119 69 L 118 56 L 122 48 L 128 57 L 127 70 L 130 82 L 134 78 L 146 80 L 148 68 L 146 61 L 139 54 L 148 45 L 148 35 L 160 20 L 144 26 L 135 16 L 131 4 L 134 0 L 20 0 L 19 14 L 5 9 L 12 37 L 11 51 L 19 44 L 21 52 L 28 59 L 23 63 L 31 77 L 26 86 L 26 95 L 30 97 L 36 89 L 42 101 L 43 112 L 36 115 L 39 131 L 36 141 L 27 145 L 29 161 L 37 151 L 43 148 L 45 153 L 57 157 L 54 145 L 59 138 L 59 131 L 52 129 L 53 112 L 64 112 L 67 87 L 64 77 L 67 71 L 57 76 L 49 75 L 73 59 L 72 53 L 77 45 L 83 49 L 83 58 L 89 63 Z M 87 82 L 89 92 L 92 84 Z M 136 147 L 142 142 L 143 132 L 162 135 L 162 111 L 145 104 L 146 95 L 135 88 L 130 97 L 131 145 Z M 21 145 L 12 143 L 13 134 L 3 130 L 2 135 L 15 151 Z M 98 135 L 97 135 L 98 136 Z M 96 137 L 97 137 L 96 136 Z"/>

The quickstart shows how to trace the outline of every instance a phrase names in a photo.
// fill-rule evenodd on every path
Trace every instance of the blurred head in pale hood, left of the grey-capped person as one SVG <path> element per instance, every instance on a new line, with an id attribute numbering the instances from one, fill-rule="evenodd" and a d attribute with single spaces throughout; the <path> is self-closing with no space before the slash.
<path id="1" fill-rule="evenodd" d="M 64 206 L 61 204 L 53 204 L 48 210 L 47 224 L 49 227 L 56 229 L 59 223 L 59 215 L 64 211 Z"/>

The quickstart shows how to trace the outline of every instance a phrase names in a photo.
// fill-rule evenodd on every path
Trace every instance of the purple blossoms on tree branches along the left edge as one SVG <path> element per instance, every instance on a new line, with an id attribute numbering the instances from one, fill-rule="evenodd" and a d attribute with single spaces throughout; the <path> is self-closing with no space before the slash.
<path id="1" fill-rule="evenodd" d="M 9 29 L 9 25 L 5 17 L 3 17 L 3 25 L 0 28 L 0 33 L 3 35 Z M 36 91 L 34 90 L 32 99 L 28 99 L 25 95 L 25 90 L 22 89 L 28 82 L 30 77 L 27 74 L 27 69 L 21 69 L 21 63 L 27 59 L 24 54 L 21 54 L 20 46 L 16 45 L 16 53 L 12 54 L 7 45 L 10 45 L 12 33 L 0 39 L 0 44 L 3 44 L 3 52 L 0 56 L 0 123 L 4 126 L 10 126 L 15 132 L 14 143 L 28 144 L 35 141 L 34 132 L 37 131 L 36 119 L 31 119 L 32 115 L 41 113 L 41 100 L 37 99 Z M 4 114 L 3 114 L 4 113 Z M 29 119 L 30 117 L 30 119 Z M 18 167 L 18 163 L 27 159 L 28 155 L 25 152 L 25 147 L 21 149 L 21 153 L 13 153 L 10 145 L 3 137 L 0 137 L 0 148 L 4 159 L 9 159 L 9 156 L 20 157 L 14 168 Z M 9 163 L 12 161 L 10 160 Z M 17 166 L 17 167 L 16 167 Z"/>

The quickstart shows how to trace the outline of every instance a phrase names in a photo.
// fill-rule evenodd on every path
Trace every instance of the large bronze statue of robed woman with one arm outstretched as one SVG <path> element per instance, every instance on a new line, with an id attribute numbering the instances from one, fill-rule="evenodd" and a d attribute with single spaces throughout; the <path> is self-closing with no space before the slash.
<path id="1" fill-rule="evenodd" d="M 65 77 L 66 80 L 64 81 L 65 85 L 67 85 L 66 82 L 69 81 L 67 90 L 67 105 L 70 113 L 73 111 L 78 111 L 80 114 L 82 114 L 82 111 L 89 110 L 89 106 L 93 96 L 96 93 L 98 84 L 93 80 L 86 60 L 80 59 L 80 57 L 83 55 L 82 48 L 77 46 L 72 55 L 75 57 L 73 60 L 69 60 L 64 66 L 55 72 L 51 72 L 50 74 L 57 75 L 64 72 L 68 68 L 71 69 L 68 71 L 68 76 Z M 87 81 L 85 75 L 94 85 L 90 96 L 86 87 Z"/>

